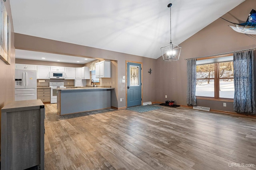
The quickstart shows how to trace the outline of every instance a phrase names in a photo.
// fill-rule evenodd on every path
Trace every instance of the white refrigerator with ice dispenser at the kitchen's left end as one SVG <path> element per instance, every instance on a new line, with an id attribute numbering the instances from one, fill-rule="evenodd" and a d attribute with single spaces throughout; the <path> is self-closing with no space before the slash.
<path id="1" fill-rule="evenodd" d="M 15 101 L 35 100 L 36 70 L 15 70 Z"/>

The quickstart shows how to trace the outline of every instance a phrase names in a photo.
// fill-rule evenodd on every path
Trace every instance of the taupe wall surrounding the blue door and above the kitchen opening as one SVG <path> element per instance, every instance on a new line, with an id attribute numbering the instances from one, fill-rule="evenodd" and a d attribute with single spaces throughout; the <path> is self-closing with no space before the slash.
<path id="1" fill-rule="evenodd" d="M 36 42 L 36 43 L 35 43 Z M 122 82 L 123 76 L 126 76 L 126 61 L 134 61 L 142 63 L 142 91 L 143 101 L 142 102 L 154 102 L 156 101 L 156 60 L 146 57 L 140 57 L 135 55 L 129 55 L 124 53 L 118 53 L 114 51 L 108 51 L 103 49 L 96 49 L 92 47 L 86 47 L 82 45 L 75 45 L 71 43 L 65 43 L 60 41 L 54 41 L 50 39 L 44 39 L 40 37 L 33 37 L 29 35 L 23 35 L 15 33 L 15 44 L 16 49 L 40 51 L 46 53 L 56 53 L 71 55 L 77 57 L 86 57 L 94 59 L 108 59 L 113 60 L 116 67 L 112 70 L 112 75 L 116 78 L 112 78 L 112 86 L 115 83 L 116 96 L 112 96 L 112 106 L 117 108 L 126 107 L 126 83 Z M 146 50 L 146 49 L 145 49 Z M 148 70 L 152 68 L 153 73 L 149 74 Z M 120 102 L 120 98 L 124 98 Z"/>

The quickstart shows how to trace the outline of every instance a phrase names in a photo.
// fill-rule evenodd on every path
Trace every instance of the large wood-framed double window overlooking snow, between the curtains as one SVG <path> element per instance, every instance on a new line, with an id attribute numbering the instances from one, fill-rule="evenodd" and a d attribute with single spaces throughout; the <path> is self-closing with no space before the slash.
<path id="1" fill-rule="evenodd" d="M 197 62 L 196 96 L 214 99 L 234 98 L 233 56 Z"/>

